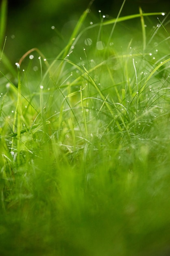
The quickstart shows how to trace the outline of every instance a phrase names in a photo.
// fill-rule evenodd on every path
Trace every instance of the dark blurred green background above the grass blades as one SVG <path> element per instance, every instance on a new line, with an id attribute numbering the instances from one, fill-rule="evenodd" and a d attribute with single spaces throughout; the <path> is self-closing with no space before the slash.
<path id="1" fill-rule="evenodd" d="M 57 54 L 67 44 L 76 21 L 85 11 L 89 0 L 9 0 L 4 52 L 15 65 L 21 56 L 33 47 L 47 58 Z M 123 0 L 94 0 L 90 18 L 99 22 L 101 14 L 116 18 Z M 121 16 L 146 12 L 170 11 L 169 0 L 126 0 Z M 100 14 L 100 15 L 101 15 Z M 89 25 L 89 23 L 87 24 Z M 132 22 L 133 25 L 133 22 Z M 51 27 L 54 26 L 55 30 Z"/>

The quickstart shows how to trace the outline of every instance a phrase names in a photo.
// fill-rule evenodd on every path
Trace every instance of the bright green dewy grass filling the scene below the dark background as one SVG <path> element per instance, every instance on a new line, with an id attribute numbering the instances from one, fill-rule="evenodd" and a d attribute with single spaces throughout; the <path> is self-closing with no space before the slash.
<path id="1" fill-rule="evenodd" d="M 54 59 L 2 44 L 2 256 L 170 253 L 168 15 L 87 15 Z"/>

